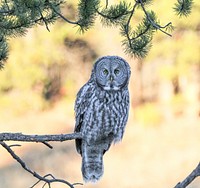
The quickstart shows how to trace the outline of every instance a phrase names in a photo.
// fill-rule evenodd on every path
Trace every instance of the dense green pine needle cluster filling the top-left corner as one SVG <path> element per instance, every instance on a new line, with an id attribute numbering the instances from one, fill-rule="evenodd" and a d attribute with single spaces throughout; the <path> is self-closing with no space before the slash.
<path id="1" fill-rule="evenodd" d="M 0 67 L 8 57 L 8 39 L 25 35 L 27 29 L 37 24 L 44 24 L 48 29 L 58 17 L 51 7 L 60 9 L 61 4 L 61 0 L 0 1 Z"/>

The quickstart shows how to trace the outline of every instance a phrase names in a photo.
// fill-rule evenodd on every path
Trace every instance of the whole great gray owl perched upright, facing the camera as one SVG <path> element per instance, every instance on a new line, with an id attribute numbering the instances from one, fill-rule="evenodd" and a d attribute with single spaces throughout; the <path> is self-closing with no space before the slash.
<path id="1" fill-rule="evenodd" d="M 103 175 L 103 155 L 111 143 L 120 141 L 129 112 L 129 64 L 118 56 L 105 56 L 94 64 L 89 81 L 75 102 L 77 152 L 82 156 L 84 181 Z"/>

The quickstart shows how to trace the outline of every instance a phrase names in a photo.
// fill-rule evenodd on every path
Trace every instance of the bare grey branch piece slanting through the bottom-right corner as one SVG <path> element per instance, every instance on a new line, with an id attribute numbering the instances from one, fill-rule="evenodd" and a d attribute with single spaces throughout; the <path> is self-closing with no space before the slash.
<path id="1" fill-rule="evenodd" d="M 198 176 L 200 176 L 200 163 L 191 172 L 191 174 L 189 174 L 182 182 L 179 182 L 174 188 L 185 188 Z"/>

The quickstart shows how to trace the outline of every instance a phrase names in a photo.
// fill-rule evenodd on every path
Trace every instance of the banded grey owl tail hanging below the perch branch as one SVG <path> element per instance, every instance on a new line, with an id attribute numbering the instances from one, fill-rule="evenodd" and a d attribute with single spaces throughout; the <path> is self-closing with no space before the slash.
<path id="1" fill-rule="evenodd" d="M 82 175 L 85 182 L 96 182 L 103 175 L 103 148 L 82 142 Z"/>

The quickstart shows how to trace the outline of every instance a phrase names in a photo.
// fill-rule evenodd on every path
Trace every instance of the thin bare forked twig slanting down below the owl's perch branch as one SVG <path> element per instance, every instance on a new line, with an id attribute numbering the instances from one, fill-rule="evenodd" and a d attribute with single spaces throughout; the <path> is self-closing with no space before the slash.
<path id="1" fill-rule="evenodd" d="M 39 182 L 43 181 L 45 182 L 43 187 L 48 184 L 49 187 L 51 183 L 55 183 L 55 182 L 58 182 L 58 183 L 63 183 L 63 184 L 66 184 L 68 185 L 70 188 L 74 188 L 74 184 L 71 184 L 69 183 L 68 181 L 65 181 L 63 179 L 57 179 L 55 178 L 52 174 L 47 174 L 45 176 L 41 176 L 40 174 L 38 174 L 37 172 L 31 170 L 27 165 L 26 163 L 18 156 L 15 154 L 15 152 L 11 149 L 10 146 L 8 146 L 5 142 L 2 142 L 0 141 L 0 144 L 2 145 L 2 147 L 4 147 L 7 152 L 22 166 L 23 169 L 25 169 L 27 172 L 29 172 L 30 174 L 32 174 L 35 178 L 38 179 L 38 181 L 33 185 L 31 186 L 31 188 L 35 187 Z M 49 177 L 50 178 L 47 178 Z M 77 184 L 75 184 L 77 185 Z"/>

